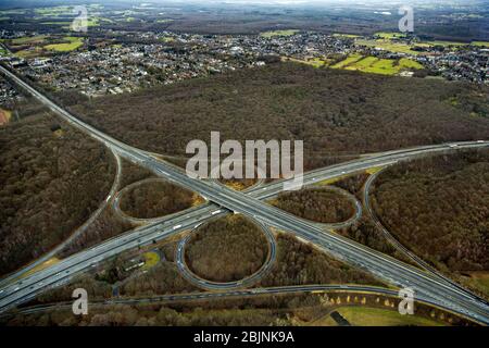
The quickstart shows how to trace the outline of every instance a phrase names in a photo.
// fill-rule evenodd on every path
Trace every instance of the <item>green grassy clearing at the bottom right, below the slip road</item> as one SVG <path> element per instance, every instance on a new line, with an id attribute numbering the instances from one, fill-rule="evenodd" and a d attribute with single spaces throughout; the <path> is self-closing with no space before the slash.
<path id="1" fill-rule="evenodd" d="M 337 311 L 354 326 L 442 326 L 441 323 L 429 319 L 401 315 L 396 310 L 355 306 L 342 307 Z"/>

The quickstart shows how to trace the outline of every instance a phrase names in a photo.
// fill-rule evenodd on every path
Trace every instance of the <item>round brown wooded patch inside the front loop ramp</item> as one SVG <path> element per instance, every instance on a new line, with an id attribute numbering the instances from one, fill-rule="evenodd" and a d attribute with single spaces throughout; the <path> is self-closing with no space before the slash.
<path id="1" fill-rule="evenodd" d="M 242 215 L 230 215 L 199 227 L 186 246 L 186 262 L 197 275 L 214 282 L 242 279 L 266 260 L 261 228 Z"/>

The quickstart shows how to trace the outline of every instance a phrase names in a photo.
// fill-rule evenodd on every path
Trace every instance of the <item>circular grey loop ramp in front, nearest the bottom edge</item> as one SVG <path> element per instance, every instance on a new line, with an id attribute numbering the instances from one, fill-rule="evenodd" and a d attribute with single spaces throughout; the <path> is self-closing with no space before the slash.
<path id="1" fill-rule="evenodd" d="M 206 289 L 206 290 L 228 290 L 228 289 L 246 288 L 246 287 L 252 286 L 253 284 L 255 284 L 260 279 L 262 279 L 263 276 L 265 276 L 272 270 L 272 268 L 274 265 L 274 261 L 275 261 L 276 254 L 277 254 L 277 245 L 276 245 L 275 236 L 272 233 L 272 231 L 268 228 L 268 226 L 265 226 L 261 222 L 258 222 L 251 217 L 247 216 L 247 219 L 249 219 L 252 223 L 254 223 L 256 226 L 259 226 L 262 229 L 262 232 L 268 243 L 268 253 L 267 253 L 266 260 L 256 272 L 254 272 L 253 274 L 251 274 L 242 279 L 234 281 L 234 282 L 208 281 L 208 279 L 200 277 L 196 273 L 193 273 L 189 269 L 189 266 L 185 260 L 185 247 L 186 247 L 187 243 L 190 240 L 192 234 L 196 233 L 197 229 L 200 227 L 199 226 L 199 227 L 196 227 L 190 234 L 188 234 L 187 236 L 181 238 L 180 241 L 178 243 L 177 250 L 175 252 L 175 261 L 177 263 L 177 269 L 180 272 L 180 274 L 191 284 L 193 284 L 202 289 Z M 211 220 L 210 222 L 212 222 L 212 221 L 213 220 Z M 210 222 L 208 222 L 208 223 L 210 223 Z"/>

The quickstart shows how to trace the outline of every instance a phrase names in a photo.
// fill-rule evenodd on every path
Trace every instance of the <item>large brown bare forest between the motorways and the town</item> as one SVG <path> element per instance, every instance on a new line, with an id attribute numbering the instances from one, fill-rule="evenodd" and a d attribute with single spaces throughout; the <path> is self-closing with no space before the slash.
<path id="1" fill-rule="evenodd" d="M 186 156 L 189 140 L 304 140 L 304 166 L 447 140 L 482 139 L 488 87 L 275 63 L 71 109 L 139 148 Z M 453 102 L 456 100 L 456 103 Z M 460 105 L 463 105 L 460 107 Z"/>

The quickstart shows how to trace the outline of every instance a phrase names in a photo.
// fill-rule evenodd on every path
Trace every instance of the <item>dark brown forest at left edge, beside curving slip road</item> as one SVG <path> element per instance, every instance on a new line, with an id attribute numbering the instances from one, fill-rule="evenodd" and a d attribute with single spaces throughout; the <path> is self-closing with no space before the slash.
<path id="1" fill-rule="evenodd" d="M 103 201 L 114 175 L 112 153 L 52 115 L 0 127 L 0 274 L 70 236 Z"/>

